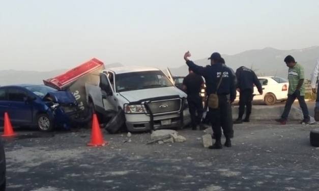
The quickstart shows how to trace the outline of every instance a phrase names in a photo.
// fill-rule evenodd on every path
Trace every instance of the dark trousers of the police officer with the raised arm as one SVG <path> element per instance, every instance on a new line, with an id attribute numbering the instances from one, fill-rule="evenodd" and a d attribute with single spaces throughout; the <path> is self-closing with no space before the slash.
<path id="1" fill-rule="evenodd" d="M 210 118 L 212 122 L 212 129 L 216 140 L 221 139 L 221 128 L 223 129 L 226 139 L 234 136 L 233 130 L 233 116 L 231 113 L 231 105 L 227 95 L 218 95 L 219 108 L 209 108 Z"/>

